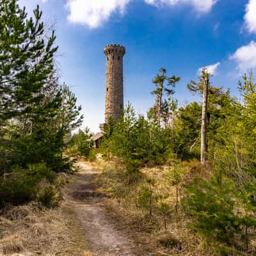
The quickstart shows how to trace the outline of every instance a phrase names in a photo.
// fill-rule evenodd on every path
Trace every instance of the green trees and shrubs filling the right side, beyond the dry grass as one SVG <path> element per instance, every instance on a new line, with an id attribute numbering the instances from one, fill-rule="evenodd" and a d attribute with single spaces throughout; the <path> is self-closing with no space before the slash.
<path id="1" fill-rule="evenodd" d="M 182 211 L 191 218 L 189 227 L 214 244 L 215 252 L 250 254 L 256 227 L 253 75 L 244 74 L 239 81 L 241 99 L 237 99 L 229 90 L 213 86 L 204 68 L 198 81 L 188 84 L 191 93 L 202 97 L 202 104 L 192 102 L 182 108 L 175 98 L 179 79 L 166 76 L 161 68 L 153 80 L 154 106 L 145 117 L 136 115 L 128 104 L 117 123 L 109 119 L 104 127 L 102 154 L 108 160 L 122 161 L 129 184 L 140 177 L 137 174 L 143 166 L 170 166 L 167 175 L 171 175 L 176 188 L 174 212 Z M 184 161 L 195 159 L 197 166 L 184 172 Z M 154 179 L 146 180 L 144 192 L 137 199 L 150 215 L 156 198 L 159 201 L 159 195 L 154 197 L 154 184 Z M 170 211 L 168 195 L 160 199 L 163 213 Z"/>

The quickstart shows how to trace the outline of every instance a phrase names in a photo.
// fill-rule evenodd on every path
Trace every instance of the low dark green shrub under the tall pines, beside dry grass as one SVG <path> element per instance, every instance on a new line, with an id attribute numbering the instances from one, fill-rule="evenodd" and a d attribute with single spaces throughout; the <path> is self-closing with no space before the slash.
<path id="1" fill-rule="evenodd" d="M 56 205 L 57 175 L 45 164 L 31 164 L 28 169 L 16 168 L 0 179 L 0 207 L 40 201 L 46 206 Z"/>

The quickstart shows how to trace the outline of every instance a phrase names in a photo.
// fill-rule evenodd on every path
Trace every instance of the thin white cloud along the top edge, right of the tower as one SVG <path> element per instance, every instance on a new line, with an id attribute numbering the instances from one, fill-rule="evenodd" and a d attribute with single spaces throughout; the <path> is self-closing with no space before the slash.
<path id="1" fill-rule="evenodd" d="M 216 4 L 219 0 L 144 0 L 148 4 L 153 4 L 155 6 L 161 6 L 163 4 L 192 4 L 196 11 L 207 13 L 211 10 L 212 6 Z"/>

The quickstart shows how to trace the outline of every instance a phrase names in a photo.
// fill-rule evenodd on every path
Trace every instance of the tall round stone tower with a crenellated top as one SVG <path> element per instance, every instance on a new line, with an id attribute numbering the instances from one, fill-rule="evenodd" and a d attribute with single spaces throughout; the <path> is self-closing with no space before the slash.
<path id="1" fill-rule="evenodd" d="M 125 47 L 111 44 L 104 47 L 107 61 L 105 121 L 109 117 L 118 120 L 124 109 L 123 57 Z"/>

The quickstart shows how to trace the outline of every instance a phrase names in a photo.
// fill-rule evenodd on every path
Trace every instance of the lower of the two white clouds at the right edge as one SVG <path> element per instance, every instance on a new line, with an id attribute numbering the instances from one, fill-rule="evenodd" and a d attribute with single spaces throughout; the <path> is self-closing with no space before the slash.
<path id="1" fill-rule="evenodd" d="M 237 70 L 243 73 L 256 68 L 256 42 L 252 41 L 236 50 L 230 60 L 236 61 Z"/>

